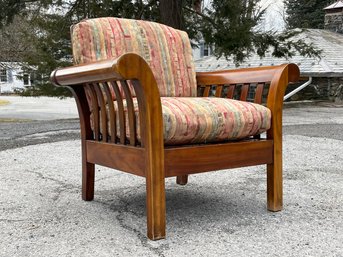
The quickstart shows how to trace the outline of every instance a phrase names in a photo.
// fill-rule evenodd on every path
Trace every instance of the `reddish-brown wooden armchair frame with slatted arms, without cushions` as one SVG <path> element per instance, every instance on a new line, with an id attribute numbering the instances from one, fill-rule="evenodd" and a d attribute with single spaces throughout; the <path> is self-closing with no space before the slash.
<path id="1" fill-rule="evenodd" d="M 71 89 L 78 107 L 82 142 L 82 199 L 93 200 L 95 164 L 145 177 L 147 234 L 152 240 L 165 237 L 166 177 L 176 176 L 177 183 L 184 185 L 189 174 L 267 164 L 267 208 L 270 211 L 282 209 L 283 96 L 288 83 L 298 80 L 298 67 L 284 64 L 199 72 L 196 78 L 198 87 L 203 90 L 202 96 L 208 96 L 213 87 L 216 87 L 215 96 L 221 96 L 226 85 L 229 86 L 226 97 L 232 98 L 235 85 L 242 84 L 242 101 L 247 100 L 249 84 L 256 83 L 256 103 L 262 102 L 262 92 L 268 83 L 266 106 L 272 113 L 272 125 L 266 138 L 256 136 L 225 143 L 165 146 L 159 90 L 149 65 L 134 53 L 57 69 L 51 74 L 55 85 Z M 127 81 L 131 81 L 138 101 L 140 142 L 136 135 L 138 124 L 133 96 Z M 118 85 L 122 87 L 127 107 L 124 107 Z M 116 108 L 110 87 L 116 95 Z M 91 92 L 92 101 L 87 100 L 84 88 Z M 124 108 L 127 108 L 129 138 L 126 135 Z M 91 110 L 93 115 L 90 115 Z M 116 115 L 119 131 L 115 125 Z"/>

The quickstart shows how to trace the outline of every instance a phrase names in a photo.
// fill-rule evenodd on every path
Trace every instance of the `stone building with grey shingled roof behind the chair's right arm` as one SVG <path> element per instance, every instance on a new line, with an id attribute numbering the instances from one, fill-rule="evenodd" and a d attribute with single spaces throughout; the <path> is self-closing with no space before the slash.
<path id="1" fill-rule="evenodd" d="M 300 75 L 307 78 L 301 94 L 294 95 L 291 100 L 328 99 L 343 103 L 343 0 L 324 8 L 325 29 L 297 29 L 299 34 L 293 40 L 302 39 L 321 49 L 321 58 L 304 57 L 295 53 L 292 58 L 276 58 L 267 52 L 261 58 L 251 54 L 240 68 L 279 65 L 293 62 L 300 68 Z M 222 69 L 236 69 L 235 62 L 224 57 L 207 56 L 195 61 L 196 71 L 213 71 Z M 298 85 L 297 85 L 298 86 Z M 307 87 L 308 86 L 308 87 Z M 305 88 L 306 87 L 306 88 Z M 292 87 L 289 87 L 292 89 Z M 296 92 L 296 90 L 294 91 Z M 290 97 L 291 94 L 289 94 Z"/>

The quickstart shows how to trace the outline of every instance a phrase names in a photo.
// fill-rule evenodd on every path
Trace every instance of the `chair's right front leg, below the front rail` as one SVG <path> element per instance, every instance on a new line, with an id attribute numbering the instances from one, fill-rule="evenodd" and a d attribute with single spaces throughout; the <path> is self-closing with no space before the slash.
<path id="1" fill-rule="evenodd" d="M 282 157 L 281 154 L 275 154 L 274 162 L 267 165 L 267 208 L 269 211 L 282 210 L 282 194 Z"/>

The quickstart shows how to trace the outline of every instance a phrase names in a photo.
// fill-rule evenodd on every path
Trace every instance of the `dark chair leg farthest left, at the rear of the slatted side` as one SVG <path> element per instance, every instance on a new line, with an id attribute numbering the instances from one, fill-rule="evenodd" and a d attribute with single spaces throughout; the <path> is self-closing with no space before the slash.
<path id="1" fill-rule="evenodd" d="M 82 199 L 92 201 L 94 198 L 94 164 L 82 160 Z"/>

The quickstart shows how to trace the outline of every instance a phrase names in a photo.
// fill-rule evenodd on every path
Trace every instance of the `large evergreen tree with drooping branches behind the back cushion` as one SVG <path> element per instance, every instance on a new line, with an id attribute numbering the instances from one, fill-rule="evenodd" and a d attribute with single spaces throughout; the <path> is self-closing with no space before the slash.
<path id="1" fill-rule="evenodd" d="M 252 52 L 263 56 L 270 47 L 278 57 L 292 56 L 294 50 L 304 55 L 317 54 L 302 41 L 289 41 L 292 33 L 256 31 L 264 14 L 259 11 L 259 2 L 212 0 L 205 6 L 202 0 L 0 0 L 1 9 L 5 10 L 0 24 L 21 15 L 34 31 L 28 36 L 36 50 L 23 56 L 24 61 L 37 67 L 39 74 L 32 94 L 41 90 L 59 93 L 60 89 L 49 86 L 49 74 L 56 67 L 71 64 L 69 28 L 84 18 L 115 16 L 161 22 L 187 31 L 193 41 L 203 37 L 207 44 L 214 45 L 217 56 L 233 57 L 237 62 Z"/>

